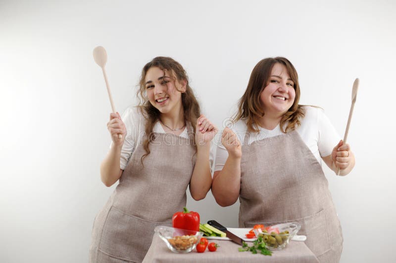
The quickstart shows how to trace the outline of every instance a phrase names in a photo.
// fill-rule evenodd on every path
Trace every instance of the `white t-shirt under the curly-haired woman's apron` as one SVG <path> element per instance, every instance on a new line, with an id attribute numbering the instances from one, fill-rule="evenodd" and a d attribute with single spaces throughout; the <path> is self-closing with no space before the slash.
<path id="1" fill-rule="evenodd" d="M 120 168 L 125 170 L 127 167 L 129 158 L 132 155 L 132 152 L 135 150 L 135 146 L 143 143 L 143 136 L 145 135 L 145 117 L 141 113 L 140 109 L 135 106 L 128 107 L 125 112 L 121 116 L 122 121 L 125 124 L 127 129 L 127 134 L 124 138 L 124 145 L 121 149 L 121 158 L 120 158 Z M 153 132 L 156 133 L 166 133 L 162 128 L 161 123 L 157 121 L 152 128 Z M 179 135 L 180 137 L 189 138 L 187 127 L 184 131 Z M 112 142 L 110 144 L 110 148 L 112 146 Z M 210 168 L 212 167 L 214 159 L 213 154 L 213 146 L 210 147 L 209 153 L 209 161 Z"/>

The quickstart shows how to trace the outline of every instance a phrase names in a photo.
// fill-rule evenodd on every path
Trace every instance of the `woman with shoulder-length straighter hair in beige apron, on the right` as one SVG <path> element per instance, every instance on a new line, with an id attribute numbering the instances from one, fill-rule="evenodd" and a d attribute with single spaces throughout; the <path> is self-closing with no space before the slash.
<path id="1" fill-rule="evenodd" d="M 222 133 L 212 193 L 221 206 L 239 197 L 240 227 L 298 222 L 320 262 L 339 262 L 343 236 L 321 160 L 344 176 L 355 158 L 323 111 L 299 105 L 299 97 L 288 59 L 257 63 Z"/>

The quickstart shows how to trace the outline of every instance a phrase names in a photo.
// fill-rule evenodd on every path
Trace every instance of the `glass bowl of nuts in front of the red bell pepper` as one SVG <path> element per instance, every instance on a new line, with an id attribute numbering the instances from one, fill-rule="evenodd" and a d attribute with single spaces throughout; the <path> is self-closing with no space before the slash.
<path id="1" fill-rule="evenodd" d="M 180 229 L 158 225 L 154 232 L 166 243 L 166 246 L 175 253 L 189 253 L 197 246 L 203 233 L 199 231 Z"/>

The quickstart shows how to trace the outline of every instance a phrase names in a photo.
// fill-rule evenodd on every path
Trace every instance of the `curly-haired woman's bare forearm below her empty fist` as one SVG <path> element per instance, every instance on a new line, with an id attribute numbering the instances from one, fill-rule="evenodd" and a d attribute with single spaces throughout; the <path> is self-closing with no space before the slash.
<path id="1" fill-rule="evenodd" d="M 209 167 L 210 143 L 197 149 L 197 160 L 190 181 L 190 193 L 195 200 L 205 198 L 212 184 L 212 176 Z"/>

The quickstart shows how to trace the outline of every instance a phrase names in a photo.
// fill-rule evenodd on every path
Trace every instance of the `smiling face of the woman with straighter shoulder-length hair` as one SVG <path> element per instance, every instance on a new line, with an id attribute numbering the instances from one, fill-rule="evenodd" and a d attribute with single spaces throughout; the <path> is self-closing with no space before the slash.
<path id="1" fill-rule="evenodd" d="M 286 66 L 274 64 L 267 85 L 260 94 L 264 114 L 271 117 L 285 114 L 292 107 L 295 97 L 294 82 Z"/>

